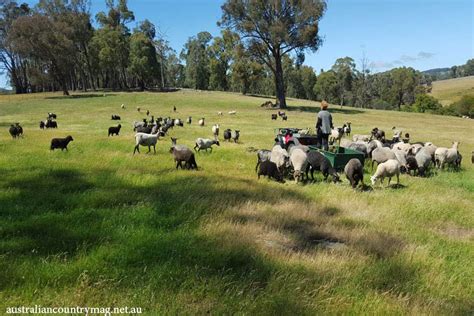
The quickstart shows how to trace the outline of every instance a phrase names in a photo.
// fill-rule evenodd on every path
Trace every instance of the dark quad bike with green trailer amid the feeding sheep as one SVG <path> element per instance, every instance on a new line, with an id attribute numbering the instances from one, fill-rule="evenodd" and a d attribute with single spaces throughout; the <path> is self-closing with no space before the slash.
<path id="1" fill-rule="evenodd" d="M 306 145 L 310 151 L 319 151 L 326 158 L 329 159 L 331 165 L 334 169 L 341 171 L 344 169 L 346 164 L 352 158 L 357 158 L 364 165 L 365 155 L 360 151 L 353 150 L 350 148 L 345 148 L 341 146 L 331 146 L 329 151 L 325 151 L 316 147 L 317 136 L 316 135 L 301 135 L 299 128 L 278 128 L 275 132 L 277 137 L 275 141 L 279 143 L 282 147 L 285 145 L 285 134 L 287 131 L 293 133 L 293 141 L 295 145 Z"/>

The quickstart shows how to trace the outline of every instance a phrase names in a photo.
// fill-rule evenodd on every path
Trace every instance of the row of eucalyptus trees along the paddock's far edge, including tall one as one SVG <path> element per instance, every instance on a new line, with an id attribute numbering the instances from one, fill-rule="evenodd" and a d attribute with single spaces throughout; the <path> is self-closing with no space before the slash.
<path id="1" fill-rule="evenodd" d="M 221 34 L 200 32 L 179 55 L 148 20 L 135 21 L 127 0 L 106 0 L 90 14 L 87 0 L 5 1 L 0 9 L 0 63 L 16 93 L 192 88 L 327 100 L 341 106 L 441 113 L 427 92 L 433 76 L 410 67 L 372 73 L 339 58 L 319 74 L 304 65 L 322 44 L 324 1 L 227 0 Z M 474 60 L 462 67 L 468 74 Z M 474 69 L 472 70 L 474 72 Z M 459 72 L 458 72 L 459 73 Z"/>

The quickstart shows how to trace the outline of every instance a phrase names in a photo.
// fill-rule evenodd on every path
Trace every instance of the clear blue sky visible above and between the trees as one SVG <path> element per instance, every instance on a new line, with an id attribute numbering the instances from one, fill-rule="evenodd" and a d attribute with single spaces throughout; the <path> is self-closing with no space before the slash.
<path id="1" fill-rule="evenodd" d="M 20 1 L 19 1 L 20 2 Z M 26 1 L 33 5 L 37 1 Z M 92 0 L 92 15 L 105 0 Z M 129 0 L 136 21 L 149 19 L 179 53 L 200 31 L 219 35 L 220 0 Z M 363 54 L 373 72 L 411 66 L 419 70 L 461 65 L 474 58 L 473 0 L 329 0 L 320 24 L 324 38 L 305 64 L 318 72 L 339 57 L 359 63 Z M 6 86 L 5 76 L 0 86 Z"/>

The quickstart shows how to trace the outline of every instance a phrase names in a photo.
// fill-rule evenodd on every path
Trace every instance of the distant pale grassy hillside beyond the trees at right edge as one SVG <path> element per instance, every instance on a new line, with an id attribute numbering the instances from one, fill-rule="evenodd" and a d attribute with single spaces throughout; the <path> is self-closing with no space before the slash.
<path id="1" fill-rule="evenodd" d="M 443 105 L 459 101 L 464 95 L 474 95 L 474 76 L 434 81 L 431 95 Z"/>

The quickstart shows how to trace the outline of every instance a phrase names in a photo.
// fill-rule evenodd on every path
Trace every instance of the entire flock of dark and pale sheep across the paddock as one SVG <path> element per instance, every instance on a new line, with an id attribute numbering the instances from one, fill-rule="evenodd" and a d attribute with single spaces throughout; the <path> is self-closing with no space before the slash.
<path id="1" fill-rule="evenodd" d="M 125 105 L 121 105 L 125 109 Z M 137 111 L 141 109 L 137 107 Z M 176 107 L 173 107 L 173 112 L 176 113 Z M 133 130 L 135 133 L 135 147 L 133 154 L 140 153 L 140 146 L 148 147 L 148 152 L 156 153 L 156 144 L 160 137 L 168 135 L 170 129 L 174 126 L 184 126 L 183 120 L 180 118 L 158 117 L 155 119 L 153 115 L 150 117 L 150 111 L 146 110 L 147 118 L 142 121 L 133 122 Z M 235 115 L 236 111 L 230 111 L 229 115 Z M 218 115 L 223 115 L 218 112 Z M 277 114 L 272 114 L 272 120 L 281 117 L 283 121 L 287 120 L 284 112 L 278 111 Z M 57 128 L 57 115 L 48 113 L 46 121 L 40 122 L 40 128 Z M 119 115 L 112 115 L 112 120 L 121 120 Z M 192 117 L 186 119 L 186 124 L 192 124 Z M 205 126 L 205 118 L 198 120 L 199 126 Z M 108 136 L 119 135 L 122 128 L 121 124 L 111 126 L 108 129 Z M 340 128 L 332 130 L 330 135 L 331 144 L 339 143 L 340 146 L 350 148 L 363 153 L 366 161 L 369 160 L 371 171 L 374 169 L 374 164 L 377 164 L 375 173 L 370 177 L 372 185 L 380 180 L 383 183 L 384 178 L 389 179 L 389 184 L 392 177 L 397 177 L 397 184 L 399 184 L 400 173 L 408 173 L 418 176 L 426 176 L 427 172 L 432 166 L 443 169 L 446 165 L 451 165 L 454 168 L 459 168 L 461 165 L 462 156 L 458 151 L 458 142 L 453 142 L 451 148 L 437 147 L 431 142 L 416 142 L 410 143 L 410 135 L 405 134 L 402 138 L 402 132 L 395 127 L 392 128 L 393 137 L 387 139 L 385 132 L 378 128 L 372 129 L 367 135 L 353 135 L 352 140 L 343 138 L 350 136 L 351 123 L 347 122 Z M 19 123 L 12 124 L 9 129 L 10 135 L 13 138 L 23 136 L 23 128 Z M 212 146 L 220 146 L 219 142 L 220 126 L 215 124 L 212 126 L 212 134 L 214 139 L 197 138 L 195 141 L 194 151 L 210 150 Z M 300 134 L 309 134 L 309 130 L 300 130 Z M 240 131 L 225 129 L 223 131 L 225 141 L 234 141 L 237 143 L 240 138 Z M 65 138 L 53 138 L 51 140 L 50 149 L 67 150 L 68 144 L 73 141 L 72 136 Z M 176 162 L 176 169 L 197 169 L 197 163 L 194 152 L 185 145 L 178 145 L 177 138 L 171 137 L 170 153 L 173 155 Z M 474 154 L 473 154 L 474 163 Z M 184 163 L 184 166 L 183 166 Z M 293 178 L 296 182 L 303 181 L 305 178 L 309 179 L 309 174 L 314 180 L 314 171 L 321 172 L 324 179 L 327 180 L 331 176 L 333 182 L 339 182 L 340 176 L 338 172 L 332 167 L 329 159 L 319 151 L 309 150 L 308 146 L 301 145 L 296 140 L 288 143 L 276 143 L 272 150 L 261 149 L 257 152 L 257 165 L 255 167 L 258 178 L 260 176 L 268 176 L 283 181 L 285 177 Z M 356 187 L 359 183 L 363 184 L 364 166 L 358 159 L 350 160 L 344 168 L 344 173 L 351 183 L 352 187 Z"/>

